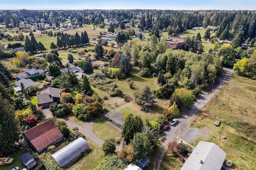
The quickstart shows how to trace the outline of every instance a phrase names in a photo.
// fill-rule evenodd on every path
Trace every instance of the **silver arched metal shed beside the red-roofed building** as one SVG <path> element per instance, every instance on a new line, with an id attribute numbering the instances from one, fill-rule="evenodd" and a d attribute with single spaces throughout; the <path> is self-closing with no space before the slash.
<path id="1" fill-rule="evenodd" d="M 52 154 L 51 157 L 59 164 L 60 168 L 66 168 L 79 158 L 84 151 L 89 149 L 89 144 L 84 138 L 80 137 Z"/>

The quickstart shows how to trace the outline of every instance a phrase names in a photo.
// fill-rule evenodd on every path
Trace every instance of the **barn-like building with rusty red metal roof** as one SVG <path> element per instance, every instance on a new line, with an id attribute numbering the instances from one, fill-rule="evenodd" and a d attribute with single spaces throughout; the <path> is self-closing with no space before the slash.
<path id="1" fill-rule="evenodd" d="M 54 125 L 53 121 L 49 119 L 39 125 L 32 127 L 22 132 L 28 138 L 30 147 L 42 152 L 48 146 L 60 142 L 64 137 L 60 130 Z"/>

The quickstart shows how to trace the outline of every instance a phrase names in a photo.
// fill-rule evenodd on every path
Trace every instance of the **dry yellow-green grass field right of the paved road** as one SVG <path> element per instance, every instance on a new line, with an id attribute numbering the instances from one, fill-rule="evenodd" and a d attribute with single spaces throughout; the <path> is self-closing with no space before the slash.
<path id="1" fill-rule="evenodd" d="M 227 153 L 226 160 L 238 169 L 256 169 L 255 80 L 233 75 L 198 115 L 192 127 L 208 130 L 206 141 L 220 146 Z M 215 119 L 221 120 L 220 127 L 214 126 Z"/>

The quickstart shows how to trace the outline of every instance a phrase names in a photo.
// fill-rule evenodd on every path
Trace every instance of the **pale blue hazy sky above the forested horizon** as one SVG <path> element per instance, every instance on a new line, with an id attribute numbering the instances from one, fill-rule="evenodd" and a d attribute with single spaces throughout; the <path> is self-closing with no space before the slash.
<path id="1" fill-rule="evenodd" d="M 0 0 L 0 10 L 256 10 L 256 0 Z"/>

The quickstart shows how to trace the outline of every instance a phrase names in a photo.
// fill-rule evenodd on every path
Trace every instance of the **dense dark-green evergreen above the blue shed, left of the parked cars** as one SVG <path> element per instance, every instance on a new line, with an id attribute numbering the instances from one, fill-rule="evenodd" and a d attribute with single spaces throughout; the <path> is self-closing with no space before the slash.
<path id="1" fill-rule="evenodd" d="M 134 134 L 141 132 L 143 127 L 142 119 L 138 116 L 133 117 L 132 114 L 128 115 L 124 121 L 124 127 L 122 130 L 122 138 L 126 141 L 126 144 L 130 143 Z"/>

